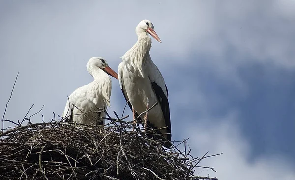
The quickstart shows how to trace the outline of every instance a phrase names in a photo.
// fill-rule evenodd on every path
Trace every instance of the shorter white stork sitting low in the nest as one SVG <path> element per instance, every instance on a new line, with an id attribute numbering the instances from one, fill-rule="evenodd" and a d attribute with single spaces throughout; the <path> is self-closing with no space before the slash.
<path id="1" fill-rule="evenodd" d="M 82 124 L 104 124 L 105 120 L 97 122 L 97 119 L 104 117 L 105 113 L 97 111 L 110 106 L 112 80 L 109 75 L 118 79 L 118 74 L 101 57 L 92 57 L 86 67 L 94 81 L 79 87 L 69 96 L 63 117 Z"/>

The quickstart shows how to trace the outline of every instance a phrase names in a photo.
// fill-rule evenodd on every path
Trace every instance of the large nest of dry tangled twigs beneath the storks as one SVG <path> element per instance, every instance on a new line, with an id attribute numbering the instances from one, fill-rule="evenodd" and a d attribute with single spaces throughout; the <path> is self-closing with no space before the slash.
<path id="1" fill-rule="evenodd" d="M 5 130 L 0 179 L 217 180 L 194 176 L 194 169 L 210 168 L 198 164 L 218 154 L 193 158 L 186 141 L 165 148 L 142 130 L 131 131 L 124 118 L 106 119 L 111 122 L 104 126 L 52 120 Z"/>

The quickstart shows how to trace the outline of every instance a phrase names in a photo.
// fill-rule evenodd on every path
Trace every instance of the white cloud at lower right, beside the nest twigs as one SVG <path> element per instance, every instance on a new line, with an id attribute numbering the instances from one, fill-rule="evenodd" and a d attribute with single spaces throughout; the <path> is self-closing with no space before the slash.
<path id="1" fill-rule="evenodd" d="M 251 144 L 241 135 L 237 126 L 238 113 L 208 123 L 204 119 L 190 125 L 184 136 L 191 137 L 188 142 L 194 156 L 219 154 L 201 161 L 201 166 L 213 167 L 217 173 L 207 169 L 196 170 L 202 176 L 218 177 L 219 180 L 294 180 L 294 167 L 279 155 L 256 157 L 249 160 Z"/>

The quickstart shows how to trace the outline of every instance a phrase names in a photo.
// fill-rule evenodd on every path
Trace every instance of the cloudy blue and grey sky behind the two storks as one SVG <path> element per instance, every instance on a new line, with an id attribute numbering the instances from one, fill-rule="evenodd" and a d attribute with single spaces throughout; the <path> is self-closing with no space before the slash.
<path id="1" fill-rule="evenodd" d="M 45 105 L 45 121 L 60 115 L 92 81 L 89 58 L 117 71 L 143 19 L 162 40 L 150 54 L 169 89 L 173 140 L 190 137 L 195 156 L 223 153 L 201 164 L 217 173 L 196 173 L 294 180 L 295 0 L 0 0 L 3 112 L 19 72 L 5 119 L 23 119 L 32 103 L 30 114 Z M 122 112 L 112 80 L 109 111 Z"/>

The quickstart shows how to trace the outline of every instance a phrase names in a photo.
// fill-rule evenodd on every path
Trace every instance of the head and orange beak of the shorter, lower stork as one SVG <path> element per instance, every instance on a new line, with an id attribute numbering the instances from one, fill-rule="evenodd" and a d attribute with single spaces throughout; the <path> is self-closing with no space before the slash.
<path id="1" fill-rule="evenodd" d="M 89 59 L 86 67 L 87 67 L 87 71 L 90 74 L 95 67 L 98 67 L 102 69 L 104 72 L 106 72 L 108 75 L 118 80 L 118 74 L 112 68 L 109 67 L 107 61 L 102 57 L 92 57 L 91 59 Z"/>

